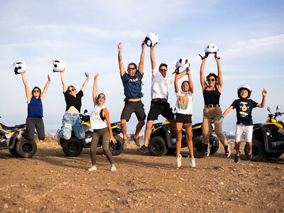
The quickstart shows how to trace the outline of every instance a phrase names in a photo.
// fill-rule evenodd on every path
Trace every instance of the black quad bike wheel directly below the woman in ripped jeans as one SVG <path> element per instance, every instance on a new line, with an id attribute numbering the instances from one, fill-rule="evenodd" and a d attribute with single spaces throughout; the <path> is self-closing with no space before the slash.
<path id="1" fill-rule="evenodd" d="M 68 157 L 80 155 L 83 149 L 81 141 L 76 137 L 71 137 L 69 140 L 64 141 L 62 148 L 63 152 Z"/>

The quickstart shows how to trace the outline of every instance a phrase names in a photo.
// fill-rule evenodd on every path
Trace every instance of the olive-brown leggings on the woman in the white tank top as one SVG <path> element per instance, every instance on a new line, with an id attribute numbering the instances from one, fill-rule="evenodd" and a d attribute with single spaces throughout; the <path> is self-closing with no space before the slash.
<path id="1" fill-rule="evenodd" d="M 104 129 L 94 129 L 91 142 L 91 159 L 92 165 L 96 165 L 97 161 L 97 144 L 99 139 L 102 139 L 102 150 L 107 155 L 107 160 L 109 163 L 114 164 L 111 152 L 109 151 L 109 129 L 106 127 Z"/>

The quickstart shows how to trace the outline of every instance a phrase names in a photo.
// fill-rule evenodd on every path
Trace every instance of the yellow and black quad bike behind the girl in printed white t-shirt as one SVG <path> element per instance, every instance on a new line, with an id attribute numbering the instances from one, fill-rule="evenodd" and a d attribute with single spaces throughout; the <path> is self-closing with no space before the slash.
<path id="1" fill-rule="evenodd" d="M 209 134 L 210 155 L 216 153 L 219 149 L 219 139 L 214 135 L 214 129 Z M 192 143 L 193 154 L 195 158 L 204 158 L 205 149 L 202 143 L 202 123 L 192 125 Z M 182 148 L 187 147 L 185 139 L 185 129 L 182 129 Z M 148 144 L 148 149 L 151 155 L 163 156 L 166 153 L 173 154 L 175 148 L 175 136 L 172 137 L 172 128 L 170 122 L 153 124 L 151 136 Z"/>

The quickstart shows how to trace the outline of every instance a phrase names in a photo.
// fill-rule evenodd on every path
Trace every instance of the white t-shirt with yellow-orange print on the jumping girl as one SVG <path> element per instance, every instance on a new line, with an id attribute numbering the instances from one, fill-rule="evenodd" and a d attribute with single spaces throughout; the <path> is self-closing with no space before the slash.
<path id="1" fill-rule="evenodd" d="M 191 92 L 178 91 L 176 94 L 177 102 L 175 109 L 179 114 L 192 114 L 192 100 L 193 94 Z"/>

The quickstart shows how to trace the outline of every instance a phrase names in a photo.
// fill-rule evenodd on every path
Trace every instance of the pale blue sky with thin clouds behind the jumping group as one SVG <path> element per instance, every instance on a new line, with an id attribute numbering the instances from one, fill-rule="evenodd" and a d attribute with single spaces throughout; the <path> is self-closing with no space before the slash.
<path id="1" fill-rule="evenodd" d="M 0 122 L 26 121 L 27 104 L 21 75 L 9 70 L 16 60 L 28 66 L 26 79 L 32 89 L 43 89 L 47 75 L 50 88 L 43 103 L 46 131 L 60 127 L 65 111 L 60 75 L 52 72 L 50 60 L 65 61 L 65 79 L 77 89 L 84 72 L 99 73 L 98 92 L 107 96 L 111 121 L 119 121 L 124 107 L 123 86 L 117 62 L 117 44 L 122 42 L 124 65 L 136 62 L 141 41 L 155 31 L 159 43 L 155 60 L 168 63 L 169 72 L 178 58 L 190 59 L 195 89 L 193 123 L 202 121 L 204 101 L 200 86 L 198 54 L 209 43 L 219 47 L 224 79 L 220 100 L 223 111 L 237 98 L 236 88 L 249 84 L 251 99 L 261 102 L 261 89 L 268 91 L 266 107 L 253 110 L 253 121 L 267 118 L 267 107 L 284 111 L 284 1 L 0 1 Z M 146 114 L 151 101 L 150 51 L 146 48 L 143 104 Z M 210 56 L 205 75 L 217 73 Z M 186 77 L 185 77 L 186 78 Z M 182 80 L 180 80 L 180 83 Z M 82 99 L 82 110 L 92 111 L 92 84 Z M 168 98 L 175 104 L 174 88 Z M 283 117 L 280 118 L 283 120 Z M 164 119 L 160 117 L 159 121 Z M 236 113 L 224 119 L 224 131 L 234 131 Z M 134 131 L 133 114 L 128 130 Z"/>

